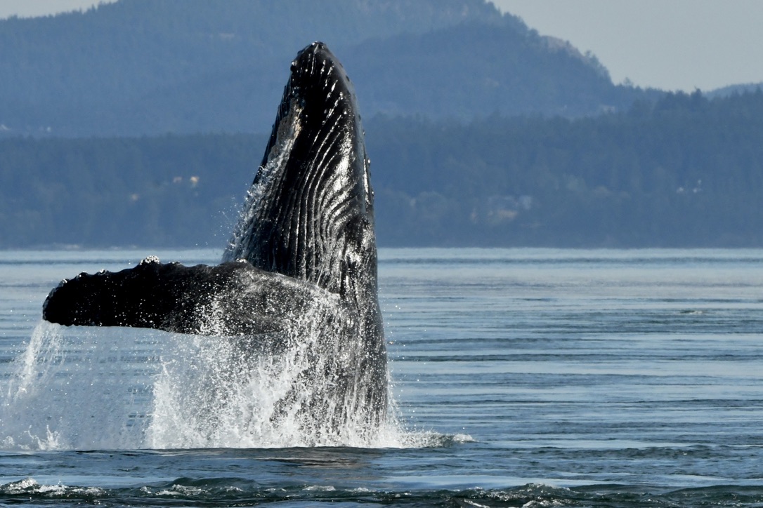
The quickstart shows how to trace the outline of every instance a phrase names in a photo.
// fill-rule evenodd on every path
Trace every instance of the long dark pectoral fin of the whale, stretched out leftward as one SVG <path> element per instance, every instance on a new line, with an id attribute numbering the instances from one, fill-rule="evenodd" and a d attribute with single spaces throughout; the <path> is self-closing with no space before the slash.
<path id="1" fill-rule="evenodd" d="M 64 280 L 43 304 L 64 325 L 156 328 L 182 334 L 282 331 L 323 290 L 246 262 L 215 267 L 144 260 L 120 272 Z"/>

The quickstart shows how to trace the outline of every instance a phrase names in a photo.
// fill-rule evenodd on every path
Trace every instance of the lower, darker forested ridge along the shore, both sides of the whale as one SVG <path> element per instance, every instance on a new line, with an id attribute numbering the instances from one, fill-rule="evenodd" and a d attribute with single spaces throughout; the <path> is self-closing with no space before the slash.
<path id="1" fill-rule="evenodd" d="M 763 246 L 763 92 L 366 122 L 381 245 Z M 5 139 L 0 248 L 222 248 L 265 136 Z"/>

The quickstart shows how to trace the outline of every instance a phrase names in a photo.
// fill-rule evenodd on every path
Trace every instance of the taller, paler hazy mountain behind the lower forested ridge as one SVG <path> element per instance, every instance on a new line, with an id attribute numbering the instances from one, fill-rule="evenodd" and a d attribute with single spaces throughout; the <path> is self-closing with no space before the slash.
<path id="1" fill-rule="evenodd" d="M 574 117 L 658 95 L 485 0 L 120 0 L 0 21 L 0 136 L 266 133 L 313 40 L 364 117 Z"/>

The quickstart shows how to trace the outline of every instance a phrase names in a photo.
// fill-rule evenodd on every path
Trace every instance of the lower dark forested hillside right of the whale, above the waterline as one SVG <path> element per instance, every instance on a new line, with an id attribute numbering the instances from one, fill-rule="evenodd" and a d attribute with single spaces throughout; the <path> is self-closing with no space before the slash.
<path id="1" fill-rule="evenodd" d="M 391 244 L 763 245 L 760 89 L 580 120 L 373 126 Z"/>

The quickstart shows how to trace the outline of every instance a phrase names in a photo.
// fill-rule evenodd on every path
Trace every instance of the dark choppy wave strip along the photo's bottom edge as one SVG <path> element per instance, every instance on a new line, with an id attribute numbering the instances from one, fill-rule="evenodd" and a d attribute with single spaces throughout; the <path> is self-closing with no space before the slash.
<path id="1" fill-rule="evenodd" d="M 556 487 L 532 483 L 504 489 L 399 489 L 337 487 L 322 484 L 262 486 L 240 478 L 177 478 L 163 484 L 103 489 L 63 484 L 40 484 L 24 478 L 0 485 L 0 504 L 35 500 L 50 503 L 130 504 L 131 506 L 177 506 L 178 503 L 378 503 L 407 506 L 593 506 L 636 508 L 640 506 L 759 506 L 763 487 L 720 485 L 665 490 L 647 485 L 594 484 Z"/>

